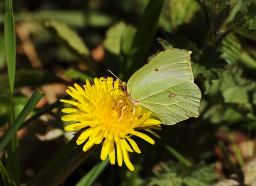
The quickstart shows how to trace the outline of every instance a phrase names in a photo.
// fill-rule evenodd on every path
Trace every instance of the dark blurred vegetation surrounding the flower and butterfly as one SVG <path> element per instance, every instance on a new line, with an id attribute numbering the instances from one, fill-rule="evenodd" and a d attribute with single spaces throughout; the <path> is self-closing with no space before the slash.
<path id="1" fill-rule="evenodd" d="M 255 184 L 253 0 L 6 0 L 0 12 L 1 183 Z M 142 153 L 131 154 L 134 172 L 101 162 L 95 149 L 79 154 L 60 120 L 67 86 L 108 77 L 106 69 L 127 82 L 168 48 L 193 52 L 200 116 L 162 126 L 154 146 L 136 139 Z"/>

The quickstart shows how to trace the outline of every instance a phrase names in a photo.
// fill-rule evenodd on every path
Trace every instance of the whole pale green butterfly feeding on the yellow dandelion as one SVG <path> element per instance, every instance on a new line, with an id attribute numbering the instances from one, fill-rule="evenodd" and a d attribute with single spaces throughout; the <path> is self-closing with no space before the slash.
<path id="1" fill-rule="evenodd" d="M 194 83 L 191 53 L 184 49 L 160 52 L 119 88 L 130 102 L 151 111 L 163 124 L 198 117 L 201 91 Z"/>

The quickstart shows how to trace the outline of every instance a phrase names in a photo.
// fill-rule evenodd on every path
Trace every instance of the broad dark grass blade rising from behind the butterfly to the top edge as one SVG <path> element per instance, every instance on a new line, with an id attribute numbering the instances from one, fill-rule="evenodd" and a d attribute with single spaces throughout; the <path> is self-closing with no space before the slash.
<path id="1" fill-rule="evenodd" d="M 154 39 L 159 16 L 164 0 L 150 0 L 143 12 L 137 32 L 135 33 L 132 50 L 124 69 L 125 80 L 138 70 L 141 62 L 146 60 L 148 49 Z"/>

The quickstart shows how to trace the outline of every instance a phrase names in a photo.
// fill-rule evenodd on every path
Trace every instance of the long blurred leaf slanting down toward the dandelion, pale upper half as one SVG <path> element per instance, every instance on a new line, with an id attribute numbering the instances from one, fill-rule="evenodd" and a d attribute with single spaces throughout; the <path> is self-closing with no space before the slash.
<path id="1" fill-rule="evenodd" d="M 74 30 L 66 23 L 56 20 L 48 20 L 42 24 L 63 47 L 74 55 L 78 62 L 84 64 L 89 68 L 89 72 L 95 74 L 98 66 L 92 60 L 89 49 Z"/>

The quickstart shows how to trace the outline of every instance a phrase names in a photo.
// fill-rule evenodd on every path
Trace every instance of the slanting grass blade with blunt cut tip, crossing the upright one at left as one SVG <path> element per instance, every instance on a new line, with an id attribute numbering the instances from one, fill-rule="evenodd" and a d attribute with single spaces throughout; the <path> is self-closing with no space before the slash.
<path id="1" fill-rule="evenodd" d="M 33 95 L 29 98 L 27 104 L 22 109 L 21 113 L 18 115 L 17 119 L 13 122 L 12 126 L 9 128 L 8 132 L 5 134 L 2 141 L 0 142 L 0 152 L 4 149 L 7 142 L 11 140 L 15 132 L 17 132 L 17 130 L 19 129 L 22 122 L 26 119 L 28 114 L 32 111 L 32 109 L 36 106 L 39 100 L 42 99 L 43 96 L 44 93 L 39 91 L 38 89 L 34 91 Z"/>

